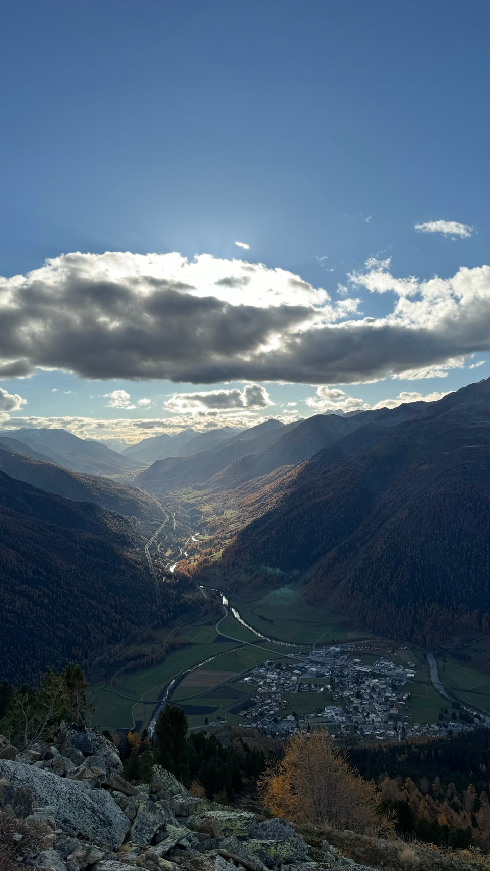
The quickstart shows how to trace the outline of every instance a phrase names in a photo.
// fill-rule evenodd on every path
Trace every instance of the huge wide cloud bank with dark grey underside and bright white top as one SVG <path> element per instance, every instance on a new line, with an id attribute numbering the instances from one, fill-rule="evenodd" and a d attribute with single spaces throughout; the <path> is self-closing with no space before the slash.
<path id="1" fill-rule="evenodd" d="M 232 279 L 248 279 L 245 302 Z M 0 374 L 345 384 L 490 351 L 488 266 L 419 280 L 371 259 L 344 287 L 331 300 L 299 275 L 208 254 L 65 254 L 0 279 Z M 385 294 L 388 313 L 360 316 L 359 288 Z"/>

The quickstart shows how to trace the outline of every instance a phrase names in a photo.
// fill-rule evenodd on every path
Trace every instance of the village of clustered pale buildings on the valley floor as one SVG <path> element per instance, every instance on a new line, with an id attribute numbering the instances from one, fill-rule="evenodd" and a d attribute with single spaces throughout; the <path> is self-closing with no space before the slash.
<path id="1" fill-rule="evenodd" d="M 490 725 L 490 718 L 460 705 L 459 719 L 414 720 L 410 699 L 418 672 L 415 662 L 404 667 L 382 655 L 365 665 L 355 652 L 334 646 L 290 659 L 264 662 L 244 678 L 256 693 L 240 712 L 241 726 L 280 737 L 298 728 L 323 726 L 332 734 L 361 740 L 401 741 Z"/>

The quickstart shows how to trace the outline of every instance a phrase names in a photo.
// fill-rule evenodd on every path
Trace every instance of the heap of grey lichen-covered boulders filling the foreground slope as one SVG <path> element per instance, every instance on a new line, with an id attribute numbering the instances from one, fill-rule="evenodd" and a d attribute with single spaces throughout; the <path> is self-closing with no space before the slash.
<path id="1" fill-rule="evenodd" d="M 149 785 L 129 783 L 122 773 L 115 746 L 89 728 L 63 725 L 54 744 L 21 754 L 0 736 L 0 816 L 15 843 L 10 868 L 16 863 L 45 871 L 367 868 L 326 842 L 322 860 L 313 861 L 288 822 L 261 821 L 247 811 L 194 798 L 161 766 L 153 766 Z M 1 841 L 0 823 L 0 848 Z"/>

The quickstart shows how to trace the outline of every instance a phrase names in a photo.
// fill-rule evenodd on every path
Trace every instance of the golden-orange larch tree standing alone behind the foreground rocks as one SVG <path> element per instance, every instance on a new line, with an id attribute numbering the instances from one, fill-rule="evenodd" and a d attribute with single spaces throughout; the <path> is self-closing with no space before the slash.
<path id="1" fill-rule="evenodd" d="M 283 760 L 259 780 L 259 793 L 270 814 L 293 822 L 328 822 L 358 834 L 391 828 L 378 813 L 375 787 L 350 768 L 323 729 L 290 738 Z"/>

